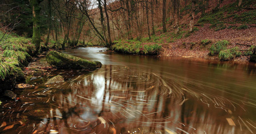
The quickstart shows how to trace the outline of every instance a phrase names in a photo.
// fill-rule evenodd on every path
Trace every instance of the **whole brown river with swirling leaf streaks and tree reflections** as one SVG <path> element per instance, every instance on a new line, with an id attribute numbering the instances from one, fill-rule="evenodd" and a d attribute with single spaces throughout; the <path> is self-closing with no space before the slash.
<path id="1" fill-rule="evenodd" d="M 105 49 L 63 51 L 100 61 L 99 69 L 28 76 L 36 87 L 2 100 L 0 133 L 256 133 L 255 64 Z M 65 82 L 44 85 L 57 74 Z"/>

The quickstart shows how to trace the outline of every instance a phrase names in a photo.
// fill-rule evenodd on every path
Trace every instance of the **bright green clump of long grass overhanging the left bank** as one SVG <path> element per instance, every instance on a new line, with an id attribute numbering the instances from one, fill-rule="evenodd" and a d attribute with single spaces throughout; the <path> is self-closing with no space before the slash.
<path id="1" fill-rule="evenodd" d="M 0 32 L 2 38 L 4 34 Z M 31 39 L 17 35 L 6 36 L 0 41 L 0 79 L 8 75 L 22 75 L 20 67 L 27 66 L 31 59 L 29 53 L 33 53 L 35 46 Z"/>

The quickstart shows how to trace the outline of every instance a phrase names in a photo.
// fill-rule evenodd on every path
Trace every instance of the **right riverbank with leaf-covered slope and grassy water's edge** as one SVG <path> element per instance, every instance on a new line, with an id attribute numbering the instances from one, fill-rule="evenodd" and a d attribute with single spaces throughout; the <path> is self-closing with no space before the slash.
<path id="1" fill-rule="evenodd" d="M 121 53 L 135 53 L 139 52 L 143 46 L 146 45 L 161 45 L 161 49 L 158 48 L 154 52 L 154 55 L 159 54 L 161 57 L 184 57 L 184 58 L 204 58 L 204 59 L 216 59 L 223 60 L 219 57 L 219 53 L 216 55 L 209 55 L 210 47 L 218 41 L 228 41 L 225 49 L 228 50 L 236 48 L 241 52 L 240 56 L 231 57 L 224 60 L 234 61 L 249 61 L 250 47 L 256 44 L 256 25 L 250 26 L 248 29 L 223 29 L 215 31 L 210 28 L 211 24 L 204 24 L 204 26 L 196 27 L 193 33 L 190 33 L 186 37 L 186 32 L 181 31 L 177 35 L 174 33 L 165 33 L 153 36 L 151 39 L 142 38 L 142 41 L 126 40 L 117 41 L 117 44 L 113 45 L 113 49 L 116 52 Z M 117 49 L 120 48 L 120 49 Z M 137 48 L 130 50 L 129 48 Z M 154 49 L 152 49 L 154 50 Z M 131 51 L 131 52 L 129 52 Z M 134 52 L 132 52 L 134 51 Z M 137 51 L 137 52 L 136 52 Z"/>

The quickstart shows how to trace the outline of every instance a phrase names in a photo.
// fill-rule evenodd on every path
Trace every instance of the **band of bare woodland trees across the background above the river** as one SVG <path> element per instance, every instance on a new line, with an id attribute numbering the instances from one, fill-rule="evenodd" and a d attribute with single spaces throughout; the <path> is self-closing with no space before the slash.
<path id="1" fill-rule="evenodd" d="M 215 0 L 220 9 L 221 0 Z M 241 7 L 242 0 L 238 0 Z M 38 51 L 44 40 L 76 46 L 96 41 L 111 47 L 113 40 L 151 39 L 156 28 L 179 32 L 181 10 L 189 14 L 189 31 L 195 13 L 205 14 L 208 0 L 2 0 L 0 26 L 4 33 L 32 37 Z M 42 38 L 44 37 L 44 38 Z M 0 37 L 1 38 L 1 37 Z M 36 51 L 36 52 L 37 52 Z"/>

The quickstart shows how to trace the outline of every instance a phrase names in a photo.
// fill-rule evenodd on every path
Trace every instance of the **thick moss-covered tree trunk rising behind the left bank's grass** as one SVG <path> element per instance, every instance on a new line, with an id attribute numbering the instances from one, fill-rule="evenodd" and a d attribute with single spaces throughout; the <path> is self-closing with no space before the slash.
<path id="1" fill-rule="evenodd" d="M 41 35 L 40 35 L 40 10 L 41 7 L 39 4 L 43 0 L 30 0 L 30 4 L 32 6 L 32 21 L 33 21 L 33 36 L 32 36 L 32 43 L 35 44 L 35 52 L 36 54 L 40 48 L 40 42 L 41 42 Z"/>

